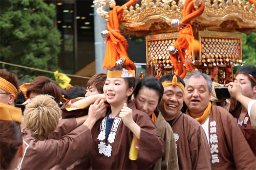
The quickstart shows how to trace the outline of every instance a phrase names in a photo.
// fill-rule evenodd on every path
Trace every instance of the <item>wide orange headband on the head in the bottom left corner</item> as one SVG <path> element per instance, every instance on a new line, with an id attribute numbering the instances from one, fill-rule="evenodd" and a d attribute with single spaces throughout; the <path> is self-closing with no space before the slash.
<path id="1" fill-rule="evenodd" d="M 22 109 L 0 103 L 0 120 L 15 121 L 22 123 Z"/>

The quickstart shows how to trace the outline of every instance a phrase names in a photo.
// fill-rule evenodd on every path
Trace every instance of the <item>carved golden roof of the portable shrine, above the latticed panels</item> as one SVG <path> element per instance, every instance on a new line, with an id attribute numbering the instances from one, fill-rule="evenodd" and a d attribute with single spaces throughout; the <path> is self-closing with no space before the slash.
<path id="1" fill-rule="evenodd" d="M 98 0 L 101 5 L 97 12 L 108 19 L 108 14 L 103 12 L 102 7 L 106 3 L 113 7 L 114 2 Z M 177 28 L 170 22 L 182 19 L 182 3 L 183 0 L 142 0 L 129 9 L 125 8 L 120 23 L 124 27 L 123 34 L 141 36 L 147 33 L 176 32 Z M 191 23 L 199 29 L 248 33 L 256 30 L 256 9 L 255 5 L 244 0 L 206 0 L 203 14 L 191 20 Z"/>

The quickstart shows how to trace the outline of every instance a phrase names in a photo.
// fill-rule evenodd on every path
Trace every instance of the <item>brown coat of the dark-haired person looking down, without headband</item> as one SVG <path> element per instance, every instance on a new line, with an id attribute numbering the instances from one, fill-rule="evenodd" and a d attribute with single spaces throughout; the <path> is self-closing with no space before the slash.
<path id="1" fill-rule="evenodd" d="M 178 169 L 178 156 L 174 132 L 170 125 L 166 122 L 161 112 L 157 116 L 157 131 L 165 142 L 164 157 L 160 158 L 154 165 L 154 169 Z"/>

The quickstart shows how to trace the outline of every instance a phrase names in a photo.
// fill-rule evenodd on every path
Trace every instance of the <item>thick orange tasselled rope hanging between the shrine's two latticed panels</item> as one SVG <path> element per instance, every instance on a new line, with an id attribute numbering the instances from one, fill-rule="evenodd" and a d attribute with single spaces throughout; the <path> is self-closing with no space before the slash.
<path id="1" fill-rule="evenodd" d="M 175 41 L 173 44 L 174 47 L 178 50 L 178 56 L 172 56 L 172 54 L 170 54 L 170 59 L 172 60 L 172 64 L 175 68 L 175 74 L 182 79 L 186 76 L 187 70 L 195 69 L 195 66 L 191 64 L 190 59 L 185 59 L 185 50 L 187 50 L 189 55 L 195 51 L 201 50 L 201 44 L 195 39 L 193 35 L 190 20 L 200 16 L 204 11 L 204 7 L 205 4 L 203 1 L 201 1 L 199 8 L 195 9 L 194 0 L 186 0 L 183 6 L 183 18 L 181 20 L 181 25 L 178 27 L 179 36 L 177 41 Z"/>

